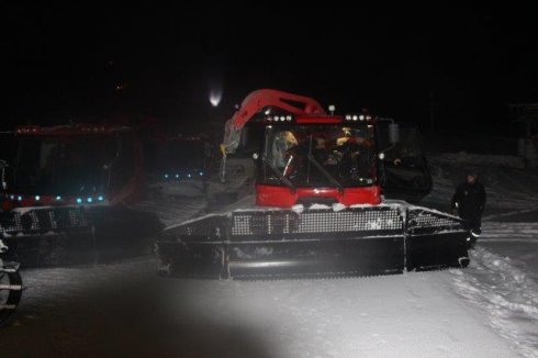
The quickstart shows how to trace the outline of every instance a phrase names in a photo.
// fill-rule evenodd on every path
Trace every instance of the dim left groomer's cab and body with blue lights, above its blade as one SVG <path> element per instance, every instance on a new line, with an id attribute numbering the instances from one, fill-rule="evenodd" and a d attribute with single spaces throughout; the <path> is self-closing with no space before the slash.
<path id="1" fill-rule="evenodd" d="M 16 155 L 4 210 L 128 204 L 141 195 L 143 149 L 131 126 L 26 125 L 14 136 Z"/>

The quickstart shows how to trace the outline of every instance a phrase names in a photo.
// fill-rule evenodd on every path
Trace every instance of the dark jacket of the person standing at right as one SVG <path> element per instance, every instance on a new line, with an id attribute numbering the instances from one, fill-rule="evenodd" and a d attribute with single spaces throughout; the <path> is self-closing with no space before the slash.
<path id="1" fill-rule="evenodd" d="M 462 182 L 452 197 L 452 210 L 458 210 L 460 217 L 466 220 L 480 219 L 484 212 L 485 190 L 477 180 L 474 183 Z"/>

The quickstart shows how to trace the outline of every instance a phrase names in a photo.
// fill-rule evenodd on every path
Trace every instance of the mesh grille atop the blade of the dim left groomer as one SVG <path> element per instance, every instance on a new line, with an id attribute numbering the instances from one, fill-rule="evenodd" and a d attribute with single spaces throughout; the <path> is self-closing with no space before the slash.
<path id="1" fill-rule="evenodd" d="M 63 231 L 85 228 L 89 220 L 78 208 L 35 209 L 24 213 L 2 213 L 0 232 L 3 234 Z"/>

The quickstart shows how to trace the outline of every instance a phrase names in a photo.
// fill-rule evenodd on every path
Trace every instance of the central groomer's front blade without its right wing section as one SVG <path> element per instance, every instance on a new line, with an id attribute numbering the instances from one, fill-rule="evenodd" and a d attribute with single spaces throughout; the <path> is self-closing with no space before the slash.
<path id="1" fill-rule="evenodd" d="M 402 272 L 399 208 L 236 211 L 170 227 L 159 240 L 173 276 L 278 278 Z"/>

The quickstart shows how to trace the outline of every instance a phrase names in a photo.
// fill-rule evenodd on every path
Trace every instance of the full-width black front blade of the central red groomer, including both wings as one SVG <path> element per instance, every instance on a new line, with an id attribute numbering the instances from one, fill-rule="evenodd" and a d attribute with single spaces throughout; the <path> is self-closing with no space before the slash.
<path id="1" fill-rule="evenodd" d="M 160 271 L 178 277 L 371 276 L 464 266 L 467 234 L 453 216 L 393 203 L 213 214 L 165 230 L 157 246 Z"/>

